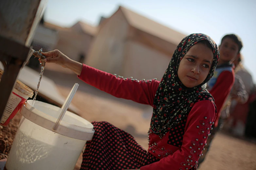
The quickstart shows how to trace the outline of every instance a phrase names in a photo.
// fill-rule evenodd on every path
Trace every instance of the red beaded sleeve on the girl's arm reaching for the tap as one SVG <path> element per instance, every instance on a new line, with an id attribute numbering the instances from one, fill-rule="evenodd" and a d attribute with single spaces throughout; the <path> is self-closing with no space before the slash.
<path id="1" fill-rule="evenodd" d="M 85 64 L 78 78 L 115 97 L 151 106 L 160 83 L 155 79 L 139 81 L 131 78 L 118 78 Z"/>

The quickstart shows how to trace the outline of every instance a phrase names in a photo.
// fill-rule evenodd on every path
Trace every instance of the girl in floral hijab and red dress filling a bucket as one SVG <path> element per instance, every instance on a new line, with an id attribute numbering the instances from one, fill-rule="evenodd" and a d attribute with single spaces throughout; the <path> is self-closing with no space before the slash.
<path id="1" fill-rule="evenodd" d="M 212 95 L 202 88 L 219 59 L 215 42 L 204 34 L 185 37 L 161 81 L 116 77 L 72 61 L 58 50 L 43 53 L 47 63 L 73 70 L 84 82 L 116 97 L 151 105 L 148 152 L 128 133 L 108 122 L 92 122 L 81 169 L 196 169 L 216 118 Z"/>

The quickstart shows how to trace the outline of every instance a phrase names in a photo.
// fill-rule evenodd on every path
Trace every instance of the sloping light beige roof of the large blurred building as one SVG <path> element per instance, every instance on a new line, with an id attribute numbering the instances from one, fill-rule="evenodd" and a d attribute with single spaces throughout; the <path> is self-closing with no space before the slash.
<path id="1" fill-rule="evenodd" d="M 186 36 L 156 21 L 150 20 L 136 12 L 133 12 L 125 7 L 120 6 L 118 10 L 121 10 L 123 12 L 128 23 L 131 26 L 173 44 L 178 45 L 179 42 Z"/>

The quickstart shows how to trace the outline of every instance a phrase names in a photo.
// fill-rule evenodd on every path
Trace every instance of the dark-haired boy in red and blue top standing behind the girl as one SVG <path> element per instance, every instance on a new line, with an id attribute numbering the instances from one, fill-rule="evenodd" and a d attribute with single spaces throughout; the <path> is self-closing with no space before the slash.
<path id="1" fill-rule="evenodd" d="M 207 82 L 206 89 L 213 95 L 215 104 L 217 107 L 217 118 L 213 130 L 211 131 L 211 136 L 207 139 L 208 145 L 203 151 L 203 156 L 200 157 L 198 161 L 198 166 L 204 161 L 207 152 L 211 146 L 212 140 L 219 130 L 220 123 L 218 123 L 220 118 L 220 111 L 227 100 L 231 88 L 235 81 L 234 66 L 232 62 L 237 56 L 240 55 L 240 51 L 243 47 L 241 39 L 234 34 L 225 35 L 221 39 L 219 46 L 220 59 L 216 67 L 213 78 Z"/>

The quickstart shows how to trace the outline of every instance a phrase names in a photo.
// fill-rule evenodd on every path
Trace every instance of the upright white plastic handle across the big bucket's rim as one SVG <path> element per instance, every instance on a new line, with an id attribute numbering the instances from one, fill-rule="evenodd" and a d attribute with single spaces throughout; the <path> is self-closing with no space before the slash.
<path id="1" fill-rule="evenodd" d="M 69 92 L 69 95 L 66 98 L 66 101 L 64 102 L 64 104 L 61 107 L 62 110 L 60 112 L 60 116 L 59 116 L 58 120 L 56 121 L 55 125 L 53 126 L 53 130 L 57 130 L 58 129 L 58 127 L 60 125 L 60 122 L 61 122 L 62 118 L 64 117 L 64 115 L 65 115 L 65 113 L 66 113 L 66 111 L 68 109 L 68 106 L 70 105 L 70 103 L 71 103 L 75 93 L 77 92 L 78 86 L 79 86 L 79 84 L 76 83 L 73 86 L 72 90 Z"/>

